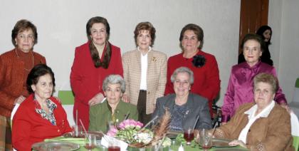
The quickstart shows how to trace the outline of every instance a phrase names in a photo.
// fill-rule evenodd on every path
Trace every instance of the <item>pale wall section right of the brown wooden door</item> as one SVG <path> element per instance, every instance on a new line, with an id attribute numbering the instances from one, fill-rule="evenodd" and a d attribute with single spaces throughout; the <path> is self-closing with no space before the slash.
<path id="1" fill-rule="evenodd" d="M 273 43 L 269 48 L 278 72 L 280 86 L 288 102 L 293 100 L 295 80 L 299 77 L 299 1 L 270 0 L 269 26 Z"/>

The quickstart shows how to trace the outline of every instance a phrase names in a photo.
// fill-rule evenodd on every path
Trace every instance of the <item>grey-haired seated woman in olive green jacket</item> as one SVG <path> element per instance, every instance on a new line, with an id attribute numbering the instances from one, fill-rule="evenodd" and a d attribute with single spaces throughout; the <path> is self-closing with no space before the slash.
<path id="1" fill-rule="evenodd" d="M 111 124 L 116 125 L 125 117 L 138 119 L 136 106 L 121 100 L 125 93 L 125 80 L 120 75 L 107 76 L 102 88 L 107 101 L 90 107 L 88 130 L 107 132 Z"/>

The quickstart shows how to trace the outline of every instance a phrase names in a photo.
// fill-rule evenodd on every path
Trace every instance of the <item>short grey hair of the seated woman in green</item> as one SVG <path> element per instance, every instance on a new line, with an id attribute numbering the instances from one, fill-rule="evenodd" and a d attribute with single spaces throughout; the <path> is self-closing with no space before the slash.
<path id="1" fill-rule="evenodd" d="M 120 90 L 125 93 L 125 80 L 120 75 L 109 75 L 103 81 L 102 89 L 107 90 L 108 84 L 120 84 Z"/>

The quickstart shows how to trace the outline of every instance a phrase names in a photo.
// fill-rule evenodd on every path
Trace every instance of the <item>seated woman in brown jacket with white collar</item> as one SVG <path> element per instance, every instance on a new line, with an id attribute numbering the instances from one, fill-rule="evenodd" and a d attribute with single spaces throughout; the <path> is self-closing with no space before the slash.
<path id="1" fill-rule="evenodd" d="M 278 90 L 277 79 L 269 73 L 259 73 L 253 79 L 253 99 L 238 108 L 226 125 L 215 131 L 215 137 L 233 140 L 250 150 L 293 150 L 290 134 L 290 114 L 273 99 Z"/>

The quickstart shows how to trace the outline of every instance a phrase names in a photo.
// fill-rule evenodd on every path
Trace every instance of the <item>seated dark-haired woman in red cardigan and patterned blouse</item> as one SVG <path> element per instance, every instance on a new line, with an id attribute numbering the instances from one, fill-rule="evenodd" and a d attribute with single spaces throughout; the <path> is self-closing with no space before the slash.
<path id="1" fill-rule="evenodd" d="M 51 68 L 45 64 L 34 66 L 26 84 L 31 95 L 13 118 L 12 142 L 16 150 L 31 150 L 35 142 L 72 131 L 61 103 L 52 97 L 55 78 Z"/>

